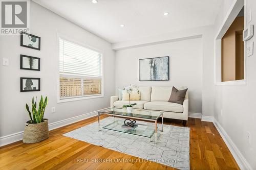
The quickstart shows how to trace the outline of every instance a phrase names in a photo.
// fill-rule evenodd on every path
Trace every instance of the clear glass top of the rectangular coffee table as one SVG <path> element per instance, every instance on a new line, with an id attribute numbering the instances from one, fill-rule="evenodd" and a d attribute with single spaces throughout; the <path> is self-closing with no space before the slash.
<path id="1" fill-rule="evenodd" d="M 99 113 L 105 113 L 110 115 L 120 115 L 125 117 L 138 117 L 144 119 L 152 119 L 157 120 L 163 112 L 161 111 L 153 111 L 153 110 L 144 110 L 144 109 L 133 109 L 132 113 L 127 113 L 126 108 L 118 108 L 118 107 L 111 107 L 108 109 L 103 109 L 98 111 Z"/>

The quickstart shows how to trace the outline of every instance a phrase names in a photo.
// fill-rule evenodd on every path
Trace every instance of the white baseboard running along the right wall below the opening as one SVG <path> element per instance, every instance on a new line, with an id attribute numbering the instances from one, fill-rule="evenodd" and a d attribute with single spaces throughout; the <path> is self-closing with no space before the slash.
<path id="1" fill-rule="evenodd" d="M 226 145 L 227 145 L 229 151 L 231 152 L 231 154 L 233 155 L 234 159 L 238 163 L 238 166 L 240 167 L 240 169 L 252 170 L 252 167 L 247 162 L 247 160 L 244 158 L 242 153 L 239 151 L 239 149 L 237 148 L 237 145 L 234 144 L 234 142 L 228 136 L 226 131 L 222 128 L 222 126 L 218 123 L 218 121 L 215 118 L 214 118 L 214 125 L 215 125 L 216 129 L 218 130 L 218 132 L 220 133 L 222 139 L 226 143 Z"/>

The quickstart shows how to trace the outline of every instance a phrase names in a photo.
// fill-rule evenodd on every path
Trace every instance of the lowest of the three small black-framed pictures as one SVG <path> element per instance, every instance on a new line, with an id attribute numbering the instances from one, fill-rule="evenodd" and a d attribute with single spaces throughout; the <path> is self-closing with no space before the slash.
<path id="1" fill-rule="evenodd" d="M 20 92 L 40 91 L 40 78 L 20 78 Z"/>

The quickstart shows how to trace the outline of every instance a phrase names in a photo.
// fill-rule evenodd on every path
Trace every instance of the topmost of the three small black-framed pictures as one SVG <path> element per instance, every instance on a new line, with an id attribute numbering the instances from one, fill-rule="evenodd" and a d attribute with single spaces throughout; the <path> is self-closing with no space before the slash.
<path id="1" fill-rule="evenodd" d="M 20 33 L 20 46 L 40 50 L 41 38 L 33 34 Z"/>

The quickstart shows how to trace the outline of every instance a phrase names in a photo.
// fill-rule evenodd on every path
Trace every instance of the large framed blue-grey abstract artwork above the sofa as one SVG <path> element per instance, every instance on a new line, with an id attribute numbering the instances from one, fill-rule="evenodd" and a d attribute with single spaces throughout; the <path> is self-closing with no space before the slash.
<path id="1" fill-rule="evenodd" d="M 169 56 L 139 60 L 139 81 L 169 80 Z"/>

